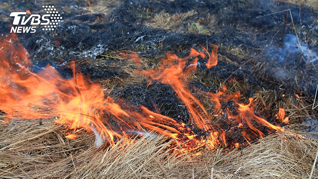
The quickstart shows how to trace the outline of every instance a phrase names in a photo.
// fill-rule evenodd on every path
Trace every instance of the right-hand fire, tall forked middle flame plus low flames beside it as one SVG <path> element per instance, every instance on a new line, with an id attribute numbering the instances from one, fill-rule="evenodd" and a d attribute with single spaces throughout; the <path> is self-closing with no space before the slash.
<path id="1" fill-rule="evenodd" d="M 213 48 L 211 54 L 208 54 L 208 62 L 205 64 L 207 68 L 211 68 L 213 65 L 217 64 L 216 58 L 217 46 L 210 44 Z M 202 47 L 205 52 L 208 52 L 206 48 Z M 199 58 L 206 58 L 203 52 L 197 52 L 194 49 L 190 50 L 190 55 L 185 58 L 178 58 L 175 54 L 167 54 L 167 58 L 162 59 L 161 67 L 159 69 L 150 69 L 142 71 L 142 74 L 150 77 L 153 80 L 160 81 L 165 84 L 171 85 L 175 90 L 177 96 L 183 101 L 183 103 L 188 108 L 190 118 L 187 125 L 187 131 L 191 131 L 187 134 L 183 132 L 183 135 L 186 135 L 188 139 L 195 139 L 198 141 L 205 142 L 205 144 L 211 148 L 218 145 L 220 140 L 222 140 L 225 146 L 228 145 L 228 136 L 231 133 L 235 133 L 239 128 L 242 128 L 241 135 L 245 138 L 246 142 L 249 143 L 251 138 L 255 136 L 262 137 L 264 133 L 259 130 L 255 124 L 266 126 L 270 130 L 282 130 L 280 126 L 273 125 L 269 123 L 264 118 L 257 116 L 254 113 L 254 103 L 253 99 L 249 98 L 248 104 L 242 104 L 239 102 L 240 93 L 228 94 L 226 92 L 227 88 L 224 85 L 222 91 L 217 93 L 204 92 L 197 89 L 198 93 L 202 97 L 210 99 L 213 103 L 210 106 L 213 106 L 212 110 L 214 115 L 209 115 L 208 111 L 211 109 L 204 108 L 203 104 L 190 93 L 189 85 L 187 84 L 186 76 L 196 70 L 197 61 Z M 189 62 L 189 59 L 193 59 Z M 232 106 L 236 105 L 235 110 L 229 109 L 225 104 L 231 104 Z M 225 128 L 220 124 L 216 123 L 212 125 L 212 121 L 222 121 L 220 123 L 227 123 L 232 126 L 227 129 L 225 133 Z M 200 135 L 202 133 L 208 133 L 203 139 L 199 139 L 199 135 L 193 132 L 194 129 L 190 129 L 191 125 L 196 125 L 196 128 L 201 129 Z M 249 131 L 249 132 L 247 132 Z M 255 135 L 250 135 L 254 133 Z M 200 136 L 202 137 L 202 136 Z M 235 142 L 235 143 L 233 143 Z M 233 146 L 236 146 L 237 141 L 232 141 Z M 239 142 L 241 143 L 241 142 Z M 198 144 L 197 146 L 202 146 L 203 144 Z"/>

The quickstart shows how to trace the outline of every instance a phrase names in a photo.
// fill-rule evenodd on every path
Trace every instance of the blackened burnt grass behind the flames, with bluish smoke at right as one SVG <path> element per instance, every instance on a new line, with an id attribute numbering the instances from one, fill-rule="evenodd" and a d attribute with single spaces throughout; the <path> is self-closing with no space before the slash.
<path id="1" fill-rule="evenodd" d="M 124 82 L 115 85 L 107 95 L 184 122 L 189 118 L 187 109 L 169 85 L 156 81 L 148 85 L 148 80 L 131 82 L 135 76 L 127 69 L 137 68 L 125 63 L 127 59 L 109 54 L 123 50 L 138 52 L 153 66 L 159 63 L 158 57 L 167 52 L 185 57 L 190 48 L 199 50 L 199 45 L 206 46 L 209 42 L 219 46 L 218 65 L 207 69 L 206 59 L 199 60 L 195 73 L 199 77 L 189 82 L 194 93 L 195 89 L 217 92 L 225 82 L 231 92 L 241 91 L 245 103 L 259 90 L 290 95 L 302 93 L 308 97 L 309 104 L 313 103 L 318 85 L 318 59 L 307 49 L 318 51 L 318 25 L 308 29 L 317 17 L 311 7 L 302 6 L 300 11 L 298 5 L 265 0 L 115 0 L 105 4 L 93 0 L 90 4 L 92 7 L 88 1 L 36 4 L 12 1 L 1 8 L 0 31 L 9 33 L 13 18 L 8 15 L 12 11 L 29 9 L 43 14 L 42 5 L 54 5 L 64 18 L 54 32 L 38 28 L 33 34 L 17 34 L 31 54 L 35 72 L 49 63 L 63 77 L 69 78 L 72 71 L 64 64 L 74 60 L 81 72 L 93 81 L 121 79 Z M 290 12 L 284 11 L 288 8 Z M 171 29 L 146 25 L 161 12 L 174 15 L 189 11 L 195 13 L 174 22 L 176 25 Z M 295 43 L 295 31 L 304 47 L 302 50 L 298 50 L 299 43 Z M 119 65 L 114 65 L 116 63 Z M 239 87 L 231 88 L 226 82 L 230 79 L 236 79 Z M 271 110 L 258 114 L 274 122 L 277 107 L 272 106 Z"/>

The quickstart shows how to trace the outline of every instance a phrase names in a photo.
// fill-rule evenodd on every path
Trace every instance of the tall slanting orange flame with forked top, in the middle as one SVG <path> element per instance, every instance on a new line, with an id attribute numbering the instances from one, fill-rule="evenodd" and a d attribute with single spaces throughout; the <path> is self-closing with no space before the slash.
<path id="1" fill-rule="evenodd" d="M 197 69 L 198 57 L 205 58 L 205 54 L 191 48 L 190 55 L 186 58 L 178 58 L 175 54 L 167 54 L 166 56 L 166 59 L 162 59 L 160 69 L 143 70 L 142 74 L 171 85 L 189 110 L 190 120 L 188 124 L 192 122 L 198 128 L 205 128 L 205 125 L 209 123 L 208 113 L 200 101 L 187 89 L 186 81 L 186 75 Z M 193 58 L 193 60 L 187 64 L 190 58 Z"/>

